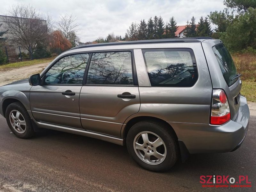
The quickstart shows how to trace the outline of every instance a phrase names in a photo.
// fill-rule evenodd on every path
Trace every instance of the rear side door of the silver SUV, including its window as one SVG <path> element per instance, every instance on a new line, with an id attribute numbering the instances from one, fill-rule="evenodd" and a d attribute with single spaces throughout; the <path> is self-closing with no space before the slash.
<path id="1" fill-rule="evenodd" d="M 140 94 L 132 53 L 92 53 L 79 101 L 85 130 L 120 138 L 126 118 L 139 111 Z"/>

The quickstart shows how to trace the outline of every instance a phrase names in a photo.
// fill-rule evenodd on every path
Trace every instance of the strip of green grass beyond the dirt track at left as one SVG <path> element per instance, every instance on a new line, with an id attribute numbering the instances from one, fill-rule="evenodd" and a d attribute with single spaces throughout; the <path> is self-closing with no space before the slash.
<path id="1" fill-rule="evenodd" d="M 16 62 L 16 63 L 4 64 L 4 65 L 0 65 L 0 69 L 18 68 L 18 67 L 35 65 L 35 64 L 39 64 L 39 63 L 47 63 L 47 62 L 50 63 L 54 58 L 55 57 L 44 58 L 44 59 L 34 59 L 34 60 L 20 61 L 20 62 Z"/>

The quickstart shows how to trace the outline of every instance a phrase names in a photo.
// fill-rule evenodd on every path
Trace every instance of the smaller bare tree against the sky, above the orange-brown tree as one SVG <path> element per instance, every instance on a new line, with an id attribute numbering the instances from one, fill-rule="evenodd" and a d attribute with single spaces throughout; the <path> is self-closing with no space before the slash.
<path id="1" fill-rule="evenodd" d="M 71 15 L 60 15 L 60 21 L 57 21 L 57 28 L 62 32 L 65 38 L 70 39 L 72 34 L 76 34 L 79 29 L 76 23 L 76 17 Z"/>

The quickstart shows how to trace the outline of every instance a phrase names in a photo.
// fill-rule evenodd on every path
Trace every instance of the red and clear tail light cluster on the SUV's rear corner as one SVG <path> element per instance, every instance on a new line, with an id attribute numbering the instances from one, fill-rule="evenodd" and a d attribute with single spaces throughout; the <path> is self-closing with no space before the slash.
<path id="1" fill-rule="evenodd" d="M 211 124 L 221 125 L 230 120 L 230 110 L 226 93 L 221 89 L 212 92 Z"/>

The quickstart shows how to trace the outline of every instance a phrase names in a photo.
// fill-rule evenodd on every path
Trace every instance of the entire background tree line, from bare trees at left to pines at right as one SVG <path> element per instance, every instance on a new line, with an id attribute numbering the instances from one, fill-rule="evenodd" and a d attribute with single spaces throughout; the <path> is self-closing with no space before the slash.
<path id="1" fill-rule="evenodd" d="M 184 36 L 213 37 L 222 40 L 231 52 L 256 54 L 256 1 L 224 0 L 224 4 L 226 9 L 210 12 L 198 23 L 193 16 L 186 24 Z M 0 63 L 6 62 L 5 45 L 21 46 L 28 52 L 22 54 L 23 57 L 33 59 L 58 55 L 75 46 L 75 41 L 80 41 L 77 36 L 79 24 L 72 15 L 61 15 L 59 21 L 53 22 L 49 15 L 20 4 L 10 8 L 8 15 L 11 17 L 4 18 L 6 29 L 0 31 Z M 216 26 L 214 30 L 211 30 L 211 24 Z M 161 16 L 155 16 L 141 19 L 139 23 L 132 22 L 123 37 L 111 33 L 106 38 L 99 37 L 85 44 L 174 38 L 176 31 L 174 17 L 164 23 Z M 3 37 L 7 32 L 9 39 Z"/>

